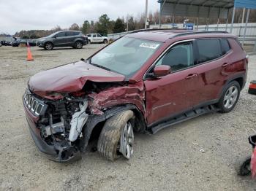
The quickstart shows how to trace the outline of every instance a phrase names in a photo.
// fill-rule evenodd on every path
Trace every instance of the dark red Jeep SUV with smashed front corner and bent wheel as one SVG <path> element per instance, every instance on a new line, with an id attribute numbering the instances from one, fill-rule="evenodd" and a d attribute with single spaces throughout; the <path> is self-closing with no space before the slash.
<path id="1" fill-rule="evenodd" d="M 86 60 L 31 77 L 23 95 L 26 119 L 37 147 L 53 160 L 78 160 L 95 139 L 103 157 L 129 159 L 134 131 L 156 133 L 232 111 L 247 64 L 233 34 L 135 31 Z"/>

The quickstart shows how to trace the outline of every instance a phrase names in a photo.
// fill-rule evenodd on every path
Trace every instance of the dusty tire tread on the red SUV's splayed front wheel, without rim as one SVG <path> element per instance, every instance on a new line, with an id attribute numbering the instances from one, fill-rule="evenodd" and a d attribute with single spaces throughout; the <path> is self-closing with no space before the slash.
<path id="1" fill-rule="evenodd" d="M 102 157 L 114 161 L 121 155 L 118 152 L 118 143 L 120 141 L 121 132 L 126 123 L 133 118 L 134 113 L 131 110 L 128 110 L 110 117 L 105 122 L 97 144 L 97 149 Z"/>

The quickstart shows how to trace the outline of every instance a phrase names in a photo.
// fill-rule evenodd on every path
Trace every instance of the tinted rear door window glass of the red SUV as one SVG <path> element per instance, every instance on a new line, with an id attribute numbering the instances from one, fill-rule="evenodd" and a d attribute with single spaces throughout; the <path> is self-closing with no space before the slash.
<path id="1" fill-rule="evenodd" d="M 222 47 L 219 39 L 200 39 L 197 40 L 198 63 L 211 61 L 222 56 Z"/>

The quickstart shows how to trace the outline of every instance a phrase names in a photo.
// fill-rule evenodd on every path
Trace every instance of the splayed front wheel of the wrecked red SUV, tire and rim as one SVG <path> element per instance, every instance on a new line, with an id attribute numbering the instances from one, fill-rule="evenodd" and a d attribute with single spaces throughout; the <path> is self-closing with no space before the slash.
<path id="1" fill-rule="evenodd" d="M 135 117 L 131 110 L 116 114 L 105 122 L 97 144 L 97 149 L 102 157 L 112 161 L 120 155 L 127 159 L 132 157 L 134 122 Z"/>

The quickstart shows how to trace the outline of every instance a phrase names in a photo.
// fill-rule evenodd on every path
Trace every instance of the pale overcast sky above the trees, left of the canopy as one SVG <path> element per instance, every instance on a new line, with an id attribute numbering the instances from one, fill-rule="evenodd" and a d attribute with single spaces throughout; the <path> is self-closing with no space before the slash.
<path id="1" fill-rule="evenodd" d="M 0 34 L 15 34 L 57 25 L 68 28 L 72 23 L 80 26 L 104 13 L 111 20 L 127 13 L 136 17 L 145 11 L 145 0 L 0 0 L 0 7 Z M 148 12 L 157 9 L 157 0 L 148 0 Z"/>

